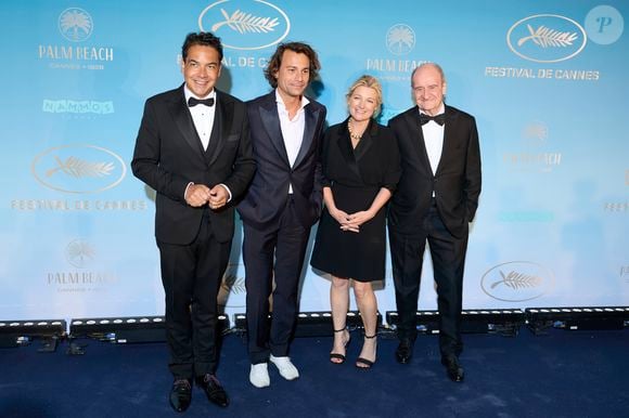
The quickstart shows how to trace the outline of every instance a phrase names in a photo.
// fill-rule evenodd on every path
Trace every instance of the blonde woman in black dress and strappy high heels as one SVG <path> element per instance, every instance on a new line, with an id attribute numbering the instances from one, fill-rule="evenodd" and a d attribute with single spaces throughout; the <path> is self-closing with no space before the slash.
<path id="1" fill-rule="evenodd" d="M 325 209 L 319 222 L 310 264 L 332 275 L 330 303 L 334 347 L 330 361 L 345 361 L 349 286 L 364 326 L 356 366 L 370 368 L 376 358 L 377 302 L 371 283 L 385 276 L 385 205 L 400 177 L 397 141 L 373 118 L 382 106 L 382 88 L 372 76 L 360 77 L 347 93 L 349 117 L 330 127 L 323 139 Z"/>

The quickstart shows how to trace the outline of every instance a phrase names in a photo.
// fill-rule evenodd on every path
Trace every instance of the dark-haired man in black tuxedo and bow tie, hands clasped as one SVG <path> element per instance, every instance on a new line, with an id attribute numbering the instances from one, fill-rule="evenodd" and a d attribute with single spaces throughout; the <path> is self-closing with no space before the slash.
<path id="1" fill-rule="evenodd" d="M 157 192 L 155 237 L 166 293 L 170 404 L 188 408 L 192 382 L 229 403 L 216 379 L 217 295 L 234 232 L 234 201 L 255 172 L 245 104 L 215 89 L 222 45 L 209 32 L 182 47 L 184 83 L 146 101 L 133 174 Z"/>

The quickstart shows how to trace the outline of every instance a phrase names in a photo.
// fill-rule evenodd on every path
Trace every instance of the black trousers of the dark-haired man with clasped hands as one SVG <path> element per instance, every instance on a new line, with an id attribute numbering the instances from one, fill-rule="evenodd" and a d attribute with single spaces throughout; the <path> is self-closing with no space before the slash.
<path id="1" fill-rule="evenodd" d="M 214 374 L 217 364 L 217 296 L 231 240 L 215 239 L 204 215 L 190 245 L 157 241 L 166 293 L 169 369 L 175 378 Z"/>

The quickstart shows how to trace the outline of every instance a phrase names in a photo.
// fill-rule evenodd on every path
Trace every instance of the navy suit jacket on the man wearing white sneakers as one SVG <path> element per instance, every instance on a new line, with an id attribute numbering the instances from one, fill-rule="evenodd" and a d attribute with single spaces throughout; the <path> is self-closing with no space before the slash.
<path id="1" fill-rule="evenodd" d="M 290 184 L 293 185 L 293 201 L 301 225 L 310 227 L 319 219 L 322 208 L 321 139 L 326 110 L 325 106 L 310 100 L 304 112 L 306 123 L 301 147 L 291 167 L 280 127 L 275 91 L 247 102 L 257 171 L 238 207 L 245 224 L 260 231 L 279 228 Z"/>

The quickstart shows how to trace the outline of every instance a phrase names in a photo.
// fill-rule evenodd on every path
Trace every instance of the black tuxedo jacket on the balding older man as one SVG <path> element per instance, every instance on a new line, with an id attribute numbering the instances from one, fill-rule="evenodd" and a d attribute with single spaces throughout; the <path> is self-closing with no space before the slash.
<path id="1" fill-rule="evenodd" d="M 420 112 L 414 106 L 389 120 L 398 140 L 402 174 L 389 207 L 389 227 L 415 233 L 428 212 L 433 191 L 441 220 L 455 237 L 467 234 L 480 194 L 480 151 L 472 115 L 446 106 L 444 148 L 433 175 Z"/>

